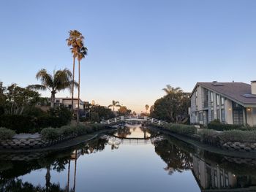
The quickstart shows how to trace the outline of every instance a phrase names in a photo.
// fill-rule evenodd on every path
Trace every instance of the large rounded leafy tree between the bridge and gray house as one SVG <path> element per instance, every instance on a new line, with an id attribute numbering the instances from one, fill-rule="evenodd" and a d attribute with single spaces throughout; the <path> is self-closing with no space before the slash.
<path id="1" fill-rule="evenodd" d="M 189 119 L 190 93 L 173 88 L 166 96 L 157 99 L 151 109 L 151 117 L 172 123 L 186 123 Z"/>

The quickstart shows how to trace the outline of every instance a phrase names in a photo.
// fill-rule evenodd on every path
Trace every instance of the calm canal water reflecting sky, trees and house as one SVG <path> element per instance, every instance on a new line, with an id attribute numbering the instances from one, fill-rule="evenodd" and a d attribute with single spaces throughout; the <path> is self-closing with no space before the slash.
<path id="1" fill-rule="evenodd" d="M 127 124 L 59 152 L 0 153 L 0 192 L 255 188 L 255 159 L 210 153 L 141 125 Z"/>

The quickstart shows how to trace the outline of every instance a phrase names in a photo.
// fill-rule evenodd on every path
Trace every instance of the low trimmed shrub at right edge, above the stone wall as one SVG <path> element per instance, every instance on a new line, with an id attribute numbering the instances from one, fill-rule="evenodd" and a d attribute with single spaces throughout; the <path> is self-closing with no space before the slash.
<path id="1" fill-rule="evenodd" d="M 223 142 L 256 142 L 256 131 L 223 131 L 218 137 Z"/>

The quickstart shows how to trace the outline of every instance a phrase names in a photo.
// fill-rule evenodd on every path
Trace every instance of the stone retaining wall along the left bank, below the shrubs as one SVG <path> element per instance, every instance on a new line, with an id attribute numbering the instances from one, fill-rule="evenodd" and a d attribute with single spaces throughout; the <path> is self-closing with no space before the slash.
<path id="1" fill-rule="evenodd" d="M 68 136 L 62 135 L 58 139 L 45 140 L 42 137 L 38 138 L 27 138 L 27 139 L 7 139 L 0 141 L 0 149 L 34 149 L 39 147 L 48 147 L 50 145 L 63 142 L 67 139 L 72 139 L 77 137 L 76 134 L 71 134 Z"/>

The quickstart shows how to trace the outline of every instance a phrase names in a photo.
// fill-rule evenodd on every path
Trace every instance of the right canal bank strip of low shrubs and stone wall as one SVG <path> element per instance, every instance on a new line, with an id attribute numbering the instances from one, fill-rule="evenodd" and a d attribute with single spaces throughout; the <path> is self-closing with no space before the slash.
<path id="1" fill-rule="evenodd" d="M 171 123 L 164 125 L 162 129 L 224 150 L 256 153 L 256 131 L 253 129 L 244 131 L 237 128 L 228 131 L 217 131 Z"/>

